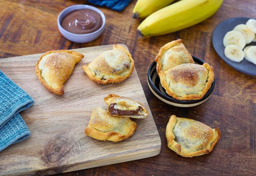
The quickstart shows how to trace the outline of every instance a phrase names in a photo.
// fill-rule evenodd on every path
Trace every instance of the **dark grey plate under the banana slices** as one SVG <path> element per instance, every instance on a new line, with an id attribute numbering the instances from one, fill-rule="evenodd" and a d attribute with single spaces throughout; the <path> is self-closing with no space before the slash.
<path id="1" fill-rule="evenodd" d="M 224 54 L 224 45 L 223 38 L 226 33 L 230 30 L 233 30 L 234 27 L 238 24 L 246 24 L 246 22 L 251 18 L 239 17 L 239 18 L 230 18 L 228 20 L 224 20 L 214 29 L 212 33 L 212 45 L 217 52 L 217 54 L 226 62 L 228 65 L 233 67 L 234 69 L 243 72 L 245 74 L 250 74 L 252 76 L 256 76 L 256 65 L 252 62 L 249 62 L 246 59 L 243 59 L 241 62 L 234 62 L 226 58 Z M 256 45 L 256 42 L 252 42 L 249 45 Z"/>

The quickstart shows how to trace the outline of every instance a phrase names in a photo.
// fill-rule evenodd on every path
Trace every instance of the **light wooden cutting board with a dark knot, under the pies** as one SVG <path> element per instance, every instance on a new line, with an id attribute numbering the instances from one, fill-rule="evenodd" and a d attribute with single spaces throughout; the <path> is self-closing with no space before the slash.
<path id="1" fill-rule="evenodd" d="M 81 68 L 111 49 L 112 45 L 76 49 L 84 58 L 64 84 L 62 96 L 48 92 L 36 77 L 34 66 L 41 54 L 0 59 L 0 70 L 35 100 L 20 113 L 31 136 L 0 152 L 1 176 L 50 175 L 159 154 L 160 137 L 136 69 L 124 82 L 102 85 L 92 82 Z M 133 119 L 137 130 L 132 137 L 116 143 L 84 134 L 92 109 L 106 108 L 103 98 L 109 93 L 133 98 L 149 111 L 148 118 Z"/>

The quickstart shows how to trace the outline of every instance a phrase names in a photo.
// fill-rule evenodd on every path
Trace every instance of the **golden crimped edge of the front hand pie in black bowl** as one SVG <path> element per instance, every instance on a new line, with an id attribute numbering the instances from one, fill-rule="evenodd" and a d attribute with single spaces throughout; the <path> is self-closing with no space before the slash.
<path id="1" fill-rule="evenodd" d="M 197 94 L 188 94 L 184 97 L 181 96 L 177 96 L 175 94 L 175 92 L 168 87 L 167 82 L 166 82 L 166 78 L 165 78 L 165 71 L 161 70 L 159 73 L 159 77 L 160 77 L 160 82 L 162 84 L 162 86 L 164 87 L 164 89 L 166 90 L 166 93 L 170 96 L 172 96 L 172 98 L 175 98 L 177 100 L 200 100 L 203 98 L 203 96 L 206 94 L 206 92 L 208 92 L 209 88 L 212 85 L 212 82 L 214 81 L 214 72 L 213 72 L 213 68 L 212 66 L 210 66 L 207 63 L 204 63 L 203 66 L 209 70 L 208 72 L 208 78 L 207 78 L 207 82 L 204 86 L 204 89 L 201 91 L 200 95 Z"/>

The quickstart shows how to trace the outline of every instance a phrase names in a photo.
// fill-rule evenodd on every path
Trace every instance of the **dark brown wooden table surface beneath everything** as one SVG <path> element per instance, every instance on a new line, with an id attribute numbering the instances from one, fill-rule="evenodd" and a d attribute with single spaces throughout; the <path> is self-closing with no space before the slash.
<path id="1" fill-rule="evenodd" d="M 58 176 L 77 175 L 256 175 L 256 77 L 238 72 L 216 54 L 211 37 L 215 26 L 232 17 L 256 18 L 255 0 L 224 0 L 220 10 L 190 28 L 158 37 L 140 38 L 140 20 L 131 18 L 135 0 L 121 13 L 100 8 L 106 16 L 103 34 L 77 44 L 58 31 L 58 14 L 82 0 L 0 0 L 0 58 L 123 43 L 135 60 L 143 90 L 158 128 L 162 149 L 151 158 L 91 168 Z M 148 66 L 161 46 L 181 38 L 191 54 L 214 67 L 216 85 L 210 99 L 194 108 L 176 108 L 158 100 L 147 85 Z M 167 147 L 165 128 L 170 115 L 203 122 L 222 132 L 207 155 L 183 158 Z"/>

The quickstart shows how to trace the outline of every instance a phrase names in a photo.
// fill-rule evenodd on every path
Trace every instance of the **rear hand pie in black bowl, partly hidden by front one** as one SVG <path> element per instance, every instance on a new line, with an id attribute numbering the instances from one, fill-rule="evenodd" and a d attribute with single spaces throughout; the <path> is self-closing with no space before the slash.
<path id="1" fill-rule="evenodd" d="M 181 39 L 174 40 L 162 46 L 155 58 L 156 71 L 168 70 L 180 64 L 194 63 L 188 50 L 185 48 Z"/>

